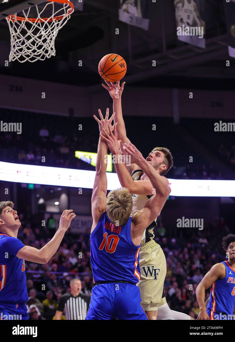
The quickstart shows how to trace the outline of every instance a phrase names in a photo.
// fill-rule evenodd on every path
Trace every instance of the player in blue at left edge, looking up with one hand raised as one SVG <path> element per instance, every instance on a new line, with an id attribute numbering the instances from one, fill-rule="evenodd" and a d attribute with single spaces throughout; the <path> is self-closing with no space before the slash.
<path id="1" fill-rule="evenodd" d="M 76 216 L 64 210 L 54 237 L 41 249 L 25 246 L 17 239 L 21 225 L 11 201 L 0 202 L 0 320 L 29 319 L 25 260 L 46 264 L 57 251 L 65 232 Z"/>

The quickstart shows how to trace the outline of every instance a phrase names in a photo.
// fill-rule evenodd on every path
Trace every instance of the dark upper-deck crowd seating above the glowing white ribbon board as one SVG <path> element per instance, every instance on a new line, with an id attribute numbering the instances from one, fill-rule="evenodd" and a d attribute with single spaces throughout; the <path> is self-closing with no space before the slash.
<path id="1" fill-rule="evenodd" d="M 7 109 L 0 109 L 0 114 L 3 122 L 8 122 L 9 117 L 12 122 L 24 122 L 21 134 L 5 132 L 0 135 L 2 161 L 95 170 L 94 166 L 75 157 L 76 150 L 97 152 L 99 130 L 93 118 L 69 117 L 65 127 L 64 117 L 60 116 Z M 180 124 L 174 124 L 172 118 L 158 117 L 156 130 L 153 130 L 155 121 L 152 117 L 136 117 L 133 130 L 133 118 L 127 116 L 126 131 L 145 158 L 156 146 L 169 148 L 174 167 L 167 174 L 168 178 L 234 179 L 233 132 L 215 132 L 214 124 L 219 120 L 181 118 Z M 145 137 L 141 146 L 140 136 Z"/>

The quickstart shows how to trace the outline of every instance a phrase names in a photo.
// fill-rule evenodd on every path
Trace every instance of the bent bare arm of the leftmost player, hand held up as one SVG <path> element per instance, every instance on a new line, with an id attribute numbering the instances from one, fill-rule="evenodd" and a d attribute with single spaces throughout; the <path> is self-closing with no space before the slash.
<path id="1" fill-rule="evenodd" d="M 59 248 L 65 232 L 69 228 L 70 223 L 75 216 L 76 215 L 72 212 L 72 209 L 64 210 L 60 217 L 59 228 L 57 232 L 45 246 L 43 246 L 41 249 L 24 246 L 18 251 L 16 256 L 27 261 L 46 264 Z"/>

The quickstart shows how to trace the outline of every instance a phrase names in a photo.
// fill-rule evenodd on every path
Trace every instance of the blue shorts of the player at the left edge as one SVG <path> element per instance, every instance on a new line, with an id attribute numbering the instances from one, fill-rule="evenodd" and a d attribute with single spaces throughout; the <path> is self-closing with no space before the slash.
<path id="1" fill-rule="evenodd" d="M 1 304 L 0 320 L 29 319 L 26 304 Z"/>

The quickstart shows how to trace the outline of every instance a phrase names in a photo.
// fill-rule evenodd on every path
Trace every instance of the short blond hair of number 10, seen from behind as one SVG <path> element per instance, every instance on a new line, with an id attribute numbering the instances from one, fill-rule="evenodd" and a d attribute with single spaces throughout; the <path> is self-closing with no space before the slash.
<path id="1" fill-rule="evenodd" d="M 132 207 L 132 196 L 127 188 L 112 190 L 107 196 L 107 215 L 116 226 L 125 226 L 127 224 Z"/>

